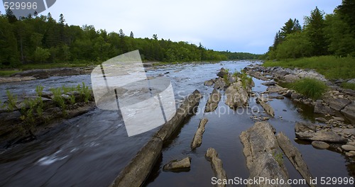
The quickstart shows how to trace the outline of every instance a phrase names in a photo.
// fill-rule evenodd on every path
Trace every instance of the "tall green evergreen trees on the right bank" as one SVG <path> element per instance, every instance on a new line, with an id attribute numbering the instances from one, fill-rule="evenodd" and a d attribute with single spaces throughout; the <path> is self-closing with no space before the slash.
<path id="1" fill-rule="evenodd" d="M 275 35 L 273 45 L 262 56 L 281 60 L 322 55 L 355 56 L 355 0 L 343 0 L 334 13 L 319 8 L 305 16 L 303 27 L 289 19 Z"/>

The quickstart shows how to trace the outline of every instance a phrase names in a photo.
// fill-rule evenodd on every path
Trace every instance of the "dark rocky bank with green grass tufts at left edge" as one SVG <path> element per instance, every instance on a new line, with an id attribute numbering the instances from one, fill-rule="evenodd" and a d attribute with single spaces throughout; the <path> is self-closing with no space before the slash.
<path id="1" fill-rule="evenodd" d="M 94 109 L 92 91 L 85 86 L 43 91 L 37 86 L 35 95 L 16 96 L 7 91 L 1 103 L 0 149 L 35 140 L 55 128 L 56 120 L 70 119 Z"/>

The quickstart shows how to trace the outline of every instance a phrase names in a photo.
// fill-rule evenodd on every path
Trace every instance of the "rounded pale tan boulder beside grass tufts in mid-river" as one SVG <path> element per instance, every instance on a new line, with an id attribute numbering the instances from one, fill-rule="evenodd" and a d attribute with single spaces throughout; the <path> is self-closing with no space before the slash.
<path id="1" fill-rule="evenodd" d="M 248 103 L 248 92 L 243 88 L 241 81 L 237 81 L 226 89 L 226 105 L 231 109 L 246 106 Z"/>

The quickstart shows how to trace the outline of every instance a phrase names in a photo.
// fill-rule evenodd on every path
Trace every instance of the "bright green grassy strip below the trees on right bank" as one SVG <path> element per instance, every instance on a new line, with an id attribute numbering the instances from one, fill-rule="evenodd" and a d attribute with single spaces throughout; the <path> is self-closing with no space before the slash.
<path id="1" fill-rule="evenodd" d="M 355 79 L 355 57 L 308 57 L 297 60 L 267 61 L 264 67 L 315 69 L 327 79 Z"/>

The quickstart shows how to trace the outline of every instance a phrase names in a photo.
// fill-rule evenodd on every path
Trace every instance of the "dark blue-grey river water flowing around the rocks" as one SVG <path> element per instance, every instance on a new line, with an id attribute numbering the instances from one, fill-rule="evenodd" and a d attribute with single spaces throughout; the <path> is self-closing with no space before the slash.
<path id="1" fill-rule="evenodd" d="M 242 131 L 251 128 L 253 111 L 261 111 L 256 115 L 266 116 L 263 109 L 250 99 L 249 108 L 232 111 L 219 103 L 217 111 L 203 113 L 208 95 L 212 87 L 203 82 L 214 79 L 221 67 L 231 72 L 240 70 L 251 62 L 221 62 L 217 64 L 176 64 L 147 69 L 148 76 L 169 77 L 173 84 L 177 105 L 185 96 L 198 89 L 204 98 L 200 102 L 197 114 L 185 120 L 175 137 L 163 148 L 162 157 L 158 160 L 145 186 L 212 186 L 214 176 L 211 165 L 204 158 L 209 147 L 214 147 L 222 159 L 229 179 L 239 177 L 247 179 L 249 171 L 242 152 L 243 145 L 239 140 Z M 266 91 L 263 81 L 254 79 L 253 91 Z M 13 82 L 0 85 L 0 98 L 6 98 L 6 89 L 14 94 L 34 94 L 35 87 L 42 85 L 45 90 L 62 85 L 76 86 L 84 82 L 91 84 L 89 75 L 70 77 L 50 77 L 48 79 Z M 354 162 L 342 154 L 330 150 L 314 149 L 304 142 L 295 142 L 294 126 L 296 121 L 314 120 L 310 108 L 296 106 L 288 98 L 270 101 L 275 109 L 275 118 L 269 123 L 280 132 L 285 132 L 293 145 L 300 149 L 303 159 L 314 177 L 355 176 Z M 297 107 L 304 109 L 297 113 Z M 208 118 L 202 145 L 191 151 L 190 143 L 195 135 L 201 118 Z M 280 118 L 282 117 L 282 118 Z M 108 186 L 129 163 L 132 157 L 158 130 L 133 137 L 128 137 L 124 122 L 116 111 L 94 109 L 84 115 L 70 120 L 58 121 L 57 128 L 37 140 L 17 145 L 0 152 L 0 186 Z M 192 158 L 188 172 L 166 172 L 164 164 L 173 159 Z M 284 158 L 290 179 L 301 179 L 288 159 Z M 320 186 L 320 185 L 318 185 Z M 353 185 L 350 185 L 353 186 Z"/>

